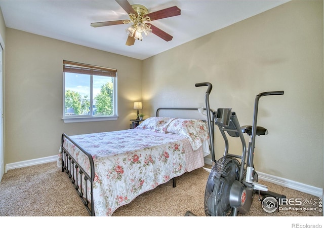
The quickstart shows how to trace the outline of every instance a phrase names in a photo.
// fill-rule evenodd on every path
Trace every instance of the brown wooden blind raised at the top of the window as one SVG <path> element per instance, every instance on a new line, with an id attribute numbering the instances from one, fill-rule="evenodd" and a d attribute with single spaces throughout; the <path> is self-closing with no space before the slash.
<path id="1" fill-rule="evenodd" d="M 63 60 L 63 72 L 116 77 L 116 69 Z"/>

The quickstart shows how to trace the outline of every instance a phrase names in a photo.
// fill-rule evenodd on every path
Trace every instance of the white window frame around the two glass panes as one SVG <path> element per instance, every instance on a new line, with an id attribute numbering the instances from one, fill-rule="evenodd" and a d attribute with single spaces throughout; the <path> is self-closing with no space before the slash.
<path id="1" fill-rule="evenodd" d="M 98 70 L 103 70 L 103 71 L 98 71 Z M 65 115 L 65 72 L 90 75 L 90 109 L 91 109 L 90 115 L 77 115 L 77 116 Z M 112 116 L 93 116 L 92 102 L 93 102 L 93 76 L 94 75 L 114 78 L 113 98 L 112 98 L 114 115 Z M 117 93 L 117 70 L 116 69 L 63 60 L 63 117 L 62 120 L 64 121 L 64 123 L 117 120 L 119 117 L 117 113 L 117 94 L 118 93 Z"/>

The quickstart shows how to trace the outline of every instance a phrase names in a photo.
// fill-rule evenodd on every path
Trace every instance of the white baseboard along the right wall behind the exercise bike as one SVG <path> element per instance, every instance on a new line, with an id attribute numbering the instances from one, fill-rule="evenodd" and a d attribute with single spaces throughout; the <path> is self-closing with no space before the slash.
<path id="1" fill-rule="evenodd" d="M 205 164 L 212 165 L 212 161 L 210 158 L 204 158 L 204 159 L 205 159 Z M 289 187 L 289 188 L 297 190 L 299 192 L 307 193 L 307 194 L 310 194 L 310 195 L 316 196 L 316 197 L 322 197 L 324 194 L 323 193 L 324 189 L 319 188 L 319 187 L 314 187 L 311 185 L 303 184 L 303 183 L 285 179 L 282 177 L 273 176 L 273 175 L 262 173 L 259 171 L 257 171 L 257 173 L 258 173 L 258 177 L 260 180 L 268 181 L 270 183 L 278 184 L 278 185 L 284 186 L 284 187 Z"/>

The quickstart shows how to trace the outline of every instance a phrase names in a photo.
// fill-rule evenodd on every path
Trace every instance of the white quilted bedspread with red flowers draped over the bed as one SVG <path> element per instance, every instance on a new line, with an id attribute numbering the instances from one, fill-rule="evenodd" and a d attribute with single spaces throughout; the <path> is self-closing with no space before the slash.
<path id="1" fill-rule="evenodd" d="M 96 216 L 111 216 L 140 194 L 204 166 L 202 149 L 193 150 L 187 138 L 175 134 L 128 129 L 69 137 L 93 157 Z M 85 170 L 90 170 L 82 151 L 67 139 L 63 146 Z"/>

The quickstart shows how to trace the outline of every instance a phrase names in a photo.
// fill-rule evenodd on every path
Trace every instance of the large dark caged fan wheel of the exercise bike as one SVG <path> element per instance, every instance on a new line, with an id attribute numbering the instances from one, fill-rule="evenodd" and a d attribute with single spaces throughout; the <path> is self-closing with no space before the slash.
<path id="1" fill-rule="evenodd" d="M 230 188 L 238 179 L 239 162 L 232 157 L 223 157 L 213 166 L 205 191 L 206 216 L 231 216 Z"/>

